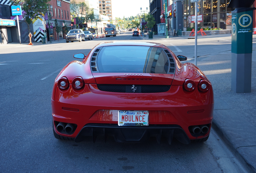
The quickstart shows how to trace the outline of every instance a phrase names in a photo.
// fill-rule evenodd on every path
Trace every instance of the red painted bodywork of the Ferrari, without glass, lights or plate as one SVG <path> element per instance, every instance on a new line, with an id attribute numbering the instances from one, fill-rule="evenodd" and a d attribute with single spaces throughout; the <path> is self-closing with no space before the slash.
<path id="1" fill-rule="evenodd" d="M 132 73 L 97 73 L 91 71 L 90 62 L 95 50 L 103 46 L 122 45 L 155 46 L 168 50 L 176 63 L 174 74 L 142 73 L 141 75 Z M 58 87 L 58 80 L 63 76 L 67 77 L 69 81 L 69 87 L 65 90 Z M 72 87 L 72 80 L 76 76 L 83 78 L 85 82 L 83 89 L 78 90 Z M 117 78 L 125 80 L 117 80 Z M 193 91 L 186 91 L 183 87 L 184 80 L 187 78 L 194 80 L 196 83 Z M 198 90 L 200 80 L 209 82 L 208 91 L 201 92 Z M 101 91 L 99 90 L 99 84 L 129 86 L 141 84 L 169 85 L 170 87 L 168 91 L 160 93 L 118 93 Z M 114 129 L 115 133 L 112 130 L 111 133 L 120 134 L 117 131 L 128 127 L 117 126 L 118 110 L 134 110 L 149 111 L 149 127 L 144 129 L 151 131 L 152 128 L 154 130 L 161 128 L 161 131 L 168 131 L 168 133 L 166 132 L 167 134 L 169 134 L 169 131 L 174 131 L 174 137 L 182 143 L 189 143 L 188 141 L 190 140 L 203 139 L 209 136 L 213 119 L 213 107 L 213 89 L 211 82 L 204 73 L 194 64 L 182 64 L 177 56 L 166 46 L 149 42 L 109 42 L 98 44 L 82 62 L 74 60 L 67 64 L 56 77 L 52 90 L 54 132 L 63 137 L 77 139 L 76 141 L 81 141 L 86 134 L 95 134 L 96 132 L 91 132 L 93 129 L 94 131 L 103 129 L 104 133 L 104 129 Z M 66 108 L 78 111 L 67 111 Z M 56 122 L 74 123 L 77 127 L 72 134 L 64 134 L 57 131 Z M 191 133 L 191 126 L 196 125 L 209 125 L 209 131 L 205 134 L 194 135 Z M 88 129 L 90 130 L 87 133 Z M 178 131 L 180 132 L 178 133 Z M 182 137 L 179 138 L 179 136 Z M 116 141 L 126 141 L 119 137 L 120 135 L 115 136 Z"/>

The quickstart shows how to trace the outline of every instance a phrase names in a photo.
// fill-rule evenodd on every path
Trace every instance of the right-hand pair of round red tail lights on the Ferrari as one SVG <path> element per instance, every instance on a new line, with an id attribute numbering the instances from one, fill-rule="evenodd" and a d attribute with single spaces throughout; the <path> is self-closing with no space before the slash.
<path id="1" fill-rule="evenodd" d="M 193 91 L 196 87 L 196 83 L 191 80 L 191 79 L 186 79 L 184 84 L 183 84 L 183 88 L 186 91 Z M 202 91 L 202 92 L 206 92 L 209 89 L 209 83 L 206 80 L 200 80 L 200 82 L 198 83 L 198 90 Z"/>

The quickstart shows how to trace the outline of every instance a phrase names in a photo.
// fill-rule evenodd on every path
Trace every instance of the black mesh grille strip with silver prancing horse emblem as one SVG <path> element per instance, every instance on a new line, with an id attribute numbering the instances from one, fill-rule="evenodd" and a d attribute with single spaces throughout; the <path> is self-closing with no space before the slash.
<path id="1" fill-rule="evenodd" d="M 169 91 L 171 85 L 134 85 L 135 91 L 132 84 L 97 84 L 97 87 L 114 93 L 163 93 Z"/>

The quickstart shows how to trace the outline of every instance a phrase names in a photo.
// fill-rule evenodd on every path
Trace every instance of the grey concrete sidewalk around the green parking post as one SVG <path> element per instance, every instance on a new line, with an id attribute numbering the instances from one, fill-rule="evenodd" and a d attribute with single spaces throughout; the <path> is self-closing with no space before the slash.
<path id="1" fill-rule="evenodd" d="M 230 34 L 203 36 L 221 37 Z M 198 36 L 200 38 L 202 36 Z M 153 39 L 188 39 L 153 35 Z M 254 41 L 256 35 L 253 36 Z M 200 49 L 200 47 L 198 47 Z M 198 58 L 197 66 L 206 74 L 214 89 L 213 128 L 223 138 L 235 156 L 248 166 L 249 172 L 256 172 L 256 45 L 252 48 L 251 93 L 235 93 L 231 90 L 231 53 L 219 53 L 207 58 Z M 190 60 L 194 63 L 194 59 Z"/>

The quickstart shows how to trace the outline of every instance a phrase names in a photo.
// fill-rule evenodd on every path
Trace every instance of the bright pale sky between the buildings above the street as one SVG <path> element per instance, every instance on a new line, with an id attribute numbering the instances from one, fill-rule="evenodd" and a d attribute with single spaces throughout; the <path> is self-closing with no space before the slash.
<path id="1" fill-rule="evenodd" d="M 136 16 L 140 12 L 140 8 L 142 11 L 147 13 L 147 8 L 149 12 L 149 0 L 111 0 L 112 5 L 112 16 L 115 19 L 116 17 L 130 17 Z"/>

